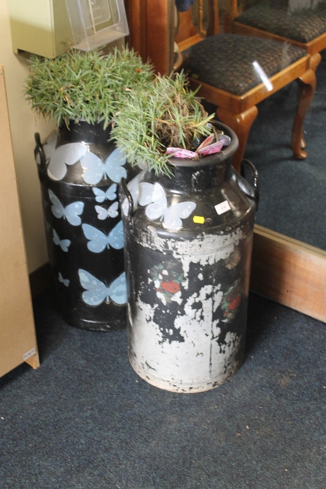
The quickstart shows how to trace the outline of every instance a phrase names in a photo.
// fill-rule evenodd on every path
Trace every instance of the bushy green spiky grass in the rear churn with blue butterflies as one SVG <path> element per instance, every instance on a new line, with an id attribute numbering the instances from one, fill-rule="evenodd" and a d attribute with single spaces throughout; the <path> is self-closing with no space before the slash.
<path id="1" fill-rule="evenodd" d="M 32 110 L 45 119 L 110 123 L 134 90 L 146 90 L 153 68 L 132 49 L 70 50 L 54 59 L 34 55 L 25 81 Z"/>

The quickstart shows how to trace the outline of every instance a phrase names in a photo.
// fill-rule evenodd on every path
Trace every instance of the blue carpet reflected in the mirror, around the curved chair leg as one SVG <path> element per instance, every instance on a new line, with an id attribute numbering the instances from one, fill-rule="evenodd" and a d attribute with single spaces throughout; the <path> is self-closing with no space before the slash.
<path id="1" fill-rule="evenodd" d="M 304 119 L 308 156 L 296 159 L 291 129 L 297 105 L 296 83 L 258 105 L 245 157 L 259 173 L 261 201 L 257 223 L 326 250 L 326 55 L 317 68 L 315 96 Z"/>

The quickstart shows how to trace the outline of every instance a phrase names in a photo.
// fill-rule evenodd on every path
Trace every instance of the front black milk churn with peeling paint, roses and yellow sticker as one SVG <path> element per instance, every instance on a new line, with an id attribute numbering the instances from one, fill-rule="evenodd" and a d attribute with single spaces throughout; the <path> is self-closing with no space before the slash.
<path id="1" fill-rule="evenodd" d="M 237 136 L 216 125 L 231 137 L 220 153 L 122 182 L 129 359 L 174 392 L 213 389 L 243 359 L 258 177 L 233 169 Z"/>

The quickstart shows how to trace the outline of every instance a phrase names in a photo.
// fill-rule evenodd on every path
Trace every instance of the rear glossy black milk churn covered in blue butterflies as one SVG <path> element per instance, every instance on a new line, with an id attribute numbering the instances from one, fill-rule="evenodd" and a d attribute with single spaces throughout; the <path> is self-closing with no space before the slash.
<path id="1" fill-rule="evenodd" d="M 136 173 L 109 135 L 86 122 L 62 126 L 44 145 L 35 135 L 56 306 L 69 325 L 95 331 L 126 327 L 117 189 Z"/>

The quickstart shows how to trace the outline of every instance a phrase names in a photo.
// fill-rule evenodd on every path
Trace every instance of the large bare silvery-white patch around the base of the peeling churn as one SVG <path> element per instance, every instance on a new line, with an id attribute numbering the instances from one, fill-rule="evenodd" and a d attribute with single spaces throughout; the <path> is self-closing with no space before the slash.
<path id="1" fill-rule="evenodd" d="M 168 333 L 178 330 L 183 342 L 164 341 L 154 320 L 155 310 L 138 298 L 137 316 L 132 322 L 134 356 L 130 362 L 140 377 L 167 390 L 187 392 L 191 387 L 199 392 L 233 375 L 238 369 L 240 338 L 235 333 L 227 333 L 222 349 L 217 341 L 212 341 L 220 333 L 213 315 L 223 295 L 217 290 L 212 296 L 212 292 L 212 285 L 204 285 L 185 301 L 183 311 L 174 319 L 173 329 L 168 325 Z M 199 309 L 194 305 L 199 305 Z"/>

